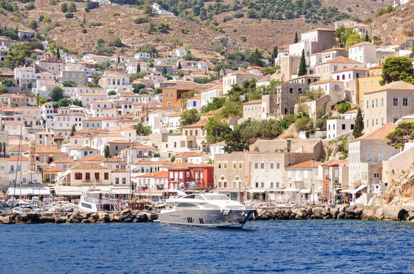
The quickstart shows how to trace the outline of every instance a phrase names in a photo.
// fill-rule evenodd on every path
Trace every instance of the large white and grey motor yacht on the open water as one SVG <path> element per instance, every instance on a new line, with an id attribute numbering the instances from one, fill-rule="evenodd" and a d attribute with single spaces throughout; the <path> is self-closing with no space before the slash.
<path id="1" fill-rule="evenodd" d="M 220 193 L 190 194 L 168 202 L 173 207 L 159 213 L 161 223 L 241 229 L 255 212 Z"/>

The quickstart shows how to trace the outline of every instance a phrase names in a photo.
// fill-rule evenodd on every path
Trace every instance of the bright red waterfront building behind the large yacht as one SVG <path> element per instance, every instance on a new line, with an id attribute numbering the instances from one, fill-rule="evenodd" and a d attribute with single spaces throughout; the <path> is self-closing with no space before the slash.
<path id="1" fill-rule="evenodd" d="M 197 187 L 214 187 L 214 166 L 209 164 L 173 164 L 168 167 L 168 189 L 178 189 L 179 184 L 195 182 Z"/>

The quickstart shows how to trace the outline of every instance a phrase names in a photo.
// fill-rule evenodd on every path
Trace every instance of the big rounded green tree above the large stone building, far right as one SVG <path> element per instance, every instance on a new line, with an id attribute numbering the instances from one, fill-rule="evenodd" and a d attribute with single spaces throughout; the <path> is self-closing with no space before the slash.
<path id="1" fill-rule="evenodd" d="M 405 81 L 414 84 L 411 59 L 402 56 L 388 56 L 382 64 L 380 85 L 394 81 Z"/>

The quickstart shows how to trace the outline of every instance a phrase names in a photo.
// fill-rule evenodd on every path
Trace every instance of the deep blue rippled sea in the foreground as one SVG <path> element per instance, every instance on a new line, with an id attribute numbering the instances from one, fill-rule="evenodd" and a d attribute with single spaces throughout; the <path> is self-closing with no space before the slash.
<path id="1" fill-rule="evenodd" d="M 414 273 L 414 223 L 0 225 L 0 273 Z"/>

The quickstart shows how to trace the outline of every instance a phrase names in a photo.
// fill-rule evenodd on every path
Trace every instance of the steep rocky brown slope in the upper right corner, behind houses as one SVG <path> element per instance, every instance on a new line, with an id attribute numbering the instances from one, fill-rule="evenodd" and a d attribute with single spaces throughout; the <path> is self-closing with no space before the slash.
<path id="1" fill-rule="evenodd" d="M 399 6 L 391 13 L 375 17 L 371 26 L 373 35 L 382 37 L 382 45 L 393 45 L 396 42 L 404 41 L 414 32 L 414 2 L 408 2 Z M 413 26 L 411 26 L 413 25 Z"/>

